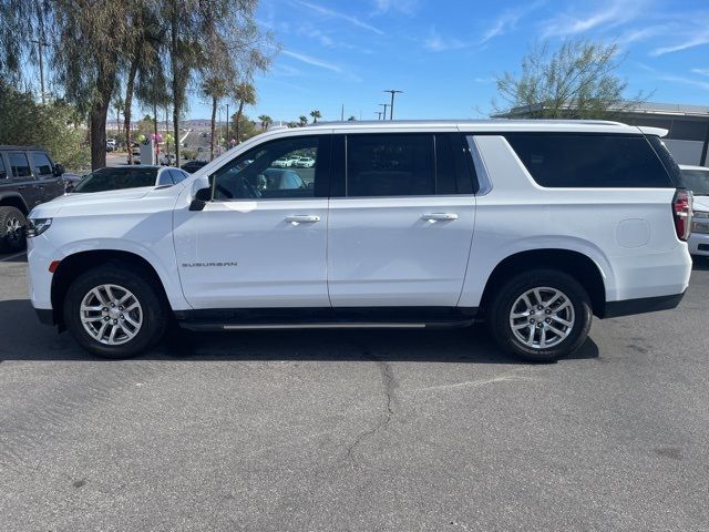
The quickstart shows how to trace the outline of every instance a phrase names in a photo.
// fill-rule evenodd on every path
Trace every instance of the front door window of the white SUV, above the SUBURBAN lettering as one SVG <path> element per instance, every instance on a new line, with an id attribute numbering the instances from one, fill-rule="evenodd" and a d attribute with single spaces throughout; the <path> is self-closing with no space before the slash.
<path id="1" fill-rule="evenodd" d="M 319 142 L 298 136 L 249 150 L 214 173 L 214 198 L 315 197 Z M 300 157 L 312 158 L 312 165 L 296 165 Z"/>

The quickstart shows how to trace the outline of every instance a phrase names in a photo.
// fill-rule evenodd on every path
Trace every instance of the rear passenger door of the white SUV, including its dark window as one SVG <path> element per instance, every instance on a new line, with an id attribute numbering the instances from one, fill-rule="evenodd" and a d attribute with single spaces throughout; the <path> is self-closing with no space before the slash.
<path id="1" fill-rule="evenodd" d="M 455 306 L 475 221 L 460 135 L 353 134 L 345 143 L 347 162 L 333 167 L 346 183 L 333 190 L 346 197 L 330 200 L 332 306 Z"/>

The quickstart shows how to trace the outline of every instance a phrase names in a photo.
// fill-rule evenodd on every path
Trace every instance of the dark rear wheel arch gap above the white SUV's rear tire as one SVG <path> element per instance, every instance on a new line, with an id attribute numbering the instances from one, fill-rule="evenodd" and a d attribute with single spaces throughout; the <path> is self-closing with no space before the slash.
<path id="1" fill-rule="evenodd" d="M 603 270 L 588 255 L 562 248 L 517 252 L 500 262 L 485 283 L 480 301 L 481 310 L 485 311 L 490 308 L 493 296 L 506 279 L 531 267 L 558 269 L 574 277 L 588 293 L 594 315 L 603 318 L 606 307 L 606 283 Z"/>

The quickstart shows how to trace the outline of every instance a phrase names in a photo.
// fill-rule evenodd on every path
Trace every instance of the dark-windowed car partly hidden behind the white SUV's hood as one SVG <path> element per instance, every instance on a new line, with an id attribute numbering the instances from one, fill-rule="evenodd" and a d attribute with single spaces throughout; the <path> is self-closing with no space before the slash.
<path id="1" fill-rule="evenodd" d="M 183 170 L 164 166 L 106 166 L 86 174 L 69 193 L 85 194 L 141 186 L 174 185 L 188 175 Z"/>

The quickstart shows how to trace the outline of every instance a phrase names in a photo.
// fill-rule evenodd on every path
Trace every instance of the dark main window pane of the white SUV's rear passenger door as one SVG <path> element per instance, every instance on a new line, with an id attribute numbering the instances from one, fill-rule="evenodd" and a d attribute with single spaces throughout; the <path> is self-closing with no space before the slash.
<path id="1" fill-rule="evenodd" d="M 424 196 L 435 194 L 433 135 L 350 135 L 347 137 L 347 195 Z"/>

